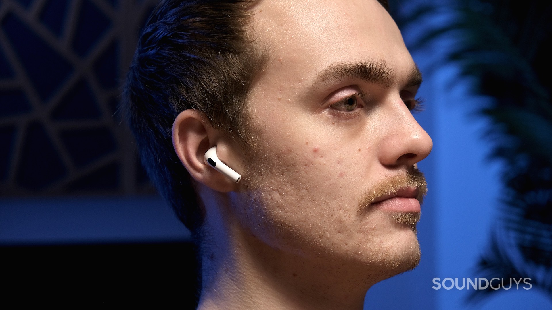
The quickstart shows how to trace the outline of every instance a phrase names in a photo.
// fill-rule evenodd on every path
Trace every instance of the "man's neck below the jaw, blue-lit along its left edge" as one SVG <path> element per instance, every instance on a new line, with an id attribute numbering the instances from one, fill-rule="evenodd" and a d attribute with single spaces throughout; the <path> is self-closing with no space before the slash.
<path id="1" fill-rule="evenodd" d="M 211 232 L 212 244 L 203 248 L 199 310 L 359 310 L 365 292 L 381 280 L 365 266 L 355 270 L 274 249 L 237 226 Z"/>

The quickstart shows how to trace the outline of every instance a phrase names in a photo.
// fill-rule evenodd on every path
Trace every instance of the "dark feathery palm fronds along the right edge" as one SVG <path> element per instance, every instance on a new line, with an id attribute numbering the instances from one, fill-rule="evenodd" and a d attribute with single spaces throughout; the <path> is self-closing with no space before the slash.
<path id="1" fill-rule="evenodd" d="M 530 277 L 533 286 L 552 296 L 552 4 L 458 0 L 453 7 L 449 23 L 418 36 L 410 49 L 453 40 L 437 66 L 457 63 L 473 81 L 473 92 L 493 99 L 479 113 L 491 120 L 485 133 L 494 146 L 491 157 L 506 163 L 505 198 L 476 269 L 487 279 Z M 416 25 L 441 10 L 421 9 L 425 12 L 394 17 L 400 25 Z M 469 301 L 493 292 L 475 290 Z"/>

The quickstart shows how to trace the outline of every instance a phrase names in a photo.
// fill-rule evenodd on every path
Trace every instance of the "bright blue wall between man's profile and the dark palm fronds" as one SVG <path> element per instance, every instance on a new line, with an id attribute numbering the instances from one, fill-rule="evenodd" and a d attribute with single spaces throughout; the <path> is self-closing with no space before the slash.
<path id="1" fill-rule="evenodd" d="M 432 288 L 434 277 L 460 282 L 484 277 L 475 266 L 497 218 L 503 168 L 489 159 L 492 144 L 484 138 L 489 122 L 474 113 L 487 99 L 470 94 L 469 80 L 459 77 L 458 67 L 434 70 L 434 55 L 436 46 L 413 54 L 426 73 L 420 89 L 425 110 L 416 118 L 433 139 L 432 153 L 419 165 L 429 189 L 418 226 L 422 261 L 417 269 L 375 285 L 365 309 L 552 309 L 550 297 L 534 287 L 512 288 L 476 304 L 466 303 L 470 291 L 465 289 Z"/>

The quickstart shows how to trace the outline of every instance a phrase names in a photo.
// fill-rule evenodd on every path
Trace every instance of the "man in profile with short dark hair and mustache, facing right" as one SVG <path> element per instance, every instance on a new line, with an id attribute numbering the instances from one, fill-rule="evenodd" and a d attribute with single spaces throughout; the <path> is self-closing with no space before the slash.
<path id="1" fill-rule="evenodd" d="M 156 9 L 126 108 L 200 244 L 198 309 L 362 309 L 371 285 L 417 265 L 420 83 L 376 0 Z M 242 181 L 204 160 L 213 146 Z"/>

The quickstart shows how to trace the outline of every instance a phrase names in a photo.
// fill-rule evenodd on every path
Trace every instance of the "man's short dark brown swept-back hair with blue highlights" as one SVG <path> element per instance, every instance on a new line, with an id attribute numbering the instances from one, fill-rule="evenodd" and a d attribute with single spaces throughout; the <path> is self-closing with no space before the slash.
<path id="1" fill-rule="evenodd" d="M 198 241 L 204 210 L 172 145 L 183 110 L 203 112 L 210 125 L 247 147 L 253 141 L 245 106 L 267 57 L 247 26 L 247 0 L 166 0 L 153 11 L 130 66 L 123 111 L 152 183 Z M 387 8 L 387 0 L 379 0 Z"/>

